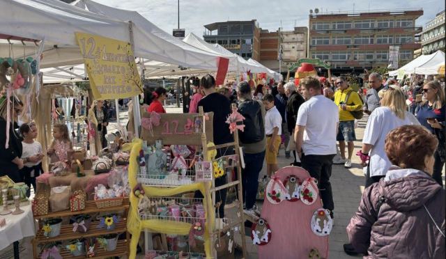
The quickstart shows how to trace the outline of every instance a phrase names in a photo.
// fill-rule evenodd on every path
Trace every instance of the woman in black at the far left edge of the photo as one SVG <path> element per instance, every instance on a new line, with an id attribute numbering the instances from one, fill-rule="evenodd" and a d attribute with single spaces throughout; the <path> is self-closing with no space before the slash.
<path id="1" fill-rule="evenodd" d="M 14 182 L 20 180 L 19 170 L 23 168 L 22 157 L 22 139 L 15 131 L 18 128 L 17 120 L 23 110 L 23 104 L 17 97 L 9 98 L 9 136 L 6 131 L 8 125 L 8 102 L 3 100 L 0 104 L 0 176 L 8 175 Z M 6 148 L 6 139 L 8 139 L 8 148 Z"/>

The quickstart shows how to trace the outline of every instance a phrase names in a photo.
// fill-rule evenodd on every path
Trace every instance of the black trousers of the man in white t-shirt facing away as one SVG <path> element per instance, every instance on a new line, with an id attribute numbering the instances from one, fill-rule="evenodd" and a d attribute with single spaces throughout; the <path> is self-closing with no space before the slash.
<path id="1" fill-rule="evenodd" d="M 303 155 L 302 167 L 309 172 L 312 178 L 318 181 L 319 195 L 321 196 L 323 208 L 334 210 L 332 185 L 332 164 L 334 155 Z"/>

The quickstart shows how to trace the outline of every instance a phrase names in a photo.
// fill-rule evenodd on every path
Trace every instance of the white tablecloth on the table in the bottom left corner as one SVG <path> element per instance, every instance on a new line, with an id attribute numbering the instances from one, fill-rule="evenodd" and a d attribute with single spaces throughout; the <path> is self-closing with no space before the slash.
<path id="1" fill-rule="evenodd" d="M 6 219 L 6 225 L 0 228 L 0 250 L 5 249 L 15 241 L 22 240 L 24 237 L 36 235 L 31 203 L 20 208 L 25 212 L 18 215 L 0 215 L 0 218 Z M 15 210 L 15 206 L 9 205 L 9 209 Z M 3 206 L 0 207 L 0 210 L 3 210 Z"/>

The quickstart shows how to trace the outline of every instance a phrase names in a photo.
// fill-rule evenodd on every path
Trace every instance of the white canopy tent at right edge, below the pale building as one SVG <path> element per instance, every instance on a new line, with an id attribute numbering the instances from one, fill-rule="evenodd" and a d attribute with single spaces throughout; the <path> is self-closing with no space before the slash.
<path id="1" fill-rule="evenodd" d="M 438 50 L 433 54 L 415 58 L 398 70 L 390 71 L 389 75 L 397 76 L 401 70 L 404 71 L 404 74 L 438 74 L 441 65 L 445 65 L 445 52 Z"/>

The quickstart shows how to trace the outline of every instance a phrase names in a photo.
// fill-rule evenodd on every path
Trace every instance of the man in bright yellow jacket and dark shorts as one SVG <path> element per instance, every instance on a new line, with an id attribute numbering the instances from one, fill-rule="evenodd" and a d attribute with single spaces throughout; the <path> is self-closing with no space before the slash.
<path id="1" fill-rule="evenodd" d="M 355 118 L 362 118 L 362 98 L 352 88 L 348 87 L 345 77 L 336 79 L 338 90 L 334 93 L 334 104 L 339 107 L 339 130 L 337 132 L 337 141 L 339 141 L 339 150 L 341 159 L 333 161 L 333 164 L 344 164 L 345 168 L 351 168 L 351 157 L 356 140 L 355 136 Z M 346 142 L 348 143 L 348 159 L 346 159 Z"/>

